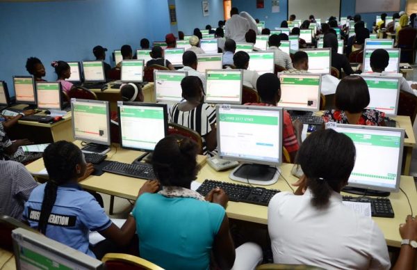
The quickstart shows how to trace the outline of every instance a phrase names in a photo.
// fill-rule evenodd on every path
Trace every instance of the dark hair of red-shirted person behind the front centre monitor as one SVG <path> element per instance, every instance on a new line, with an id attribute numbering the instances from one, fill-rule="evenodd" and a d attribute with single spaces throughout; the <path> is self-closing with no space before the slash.
<path id="1" fill-rule="evenodd" d="M 268 102 L 275 100 L 277 94 L 281 97 L 281 83 L 277 75 L 273 73 L 265 73 L 259 76 L 256 81 L 256 90 L 258 90 L 261 101 Z"/>

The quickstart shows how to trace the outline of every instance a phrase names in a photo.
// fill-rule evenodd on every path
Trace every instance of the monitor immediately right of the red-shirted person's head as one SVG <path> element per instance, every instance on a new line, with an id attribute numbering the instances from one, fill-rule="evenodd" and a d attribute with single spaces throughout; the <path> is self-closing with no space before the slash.
<path id="1" fill-rule="evenodd" d="M 279 74 L 281 100 L 277 106 L 297 111 L 320 109 L 321 74 Z"/>

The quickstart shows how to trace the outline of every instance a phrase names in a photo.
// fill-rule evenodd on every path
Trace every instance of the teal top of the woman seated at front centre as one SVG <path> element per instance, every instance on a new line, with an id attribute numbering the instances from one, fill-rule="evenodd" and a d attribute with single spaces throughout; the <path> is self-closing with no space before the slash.
<path id="1" fill-rule="evenodd" d="M 142 194 L 133 209 L 140 257 L 164 269 L 208 269 L 224 214 L 212 202 Z"/>

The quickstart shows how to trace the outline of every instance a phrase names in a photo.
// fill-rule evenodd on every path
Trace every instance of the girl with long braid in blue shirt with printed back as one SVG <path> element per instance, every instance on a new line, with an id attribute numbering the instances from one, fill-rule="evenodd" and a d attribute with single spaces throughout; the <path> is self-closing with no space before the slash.
<path id="1" fill-rule="evenodd" d="M 89 231 L 98 231 L 117 246 L 125 246 L 135 233 L 135 221 L 129 216 L 121 229 L 112 223 L 90 193 L 79 186 L 86 164 L 83 152 L 67 141 L 51 143 L 43 153 L 48 182 L 33 189 L 24 206 L 24 221 L 45 236 L 66 244 L 91 257 Z M 143 192 L 156 191 L 156 181 L 142 186 Z M 54 217 L 54 219 L 51 219 Z"/>

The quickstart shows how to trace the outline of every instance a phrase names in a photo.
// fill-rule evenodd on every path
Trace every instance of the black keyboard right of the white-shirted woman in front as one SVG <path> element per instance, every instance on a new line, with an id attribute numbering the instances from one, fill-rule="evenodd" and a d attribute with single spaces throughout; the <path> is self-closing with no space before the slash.
<path id="1" fill-rule="evenodd" d="M 370 202 L 372 216 L 391 219 L 394 217 L 394 210 L 388 198 L 343 196 L 343 200 L 348 202 Z"/>

